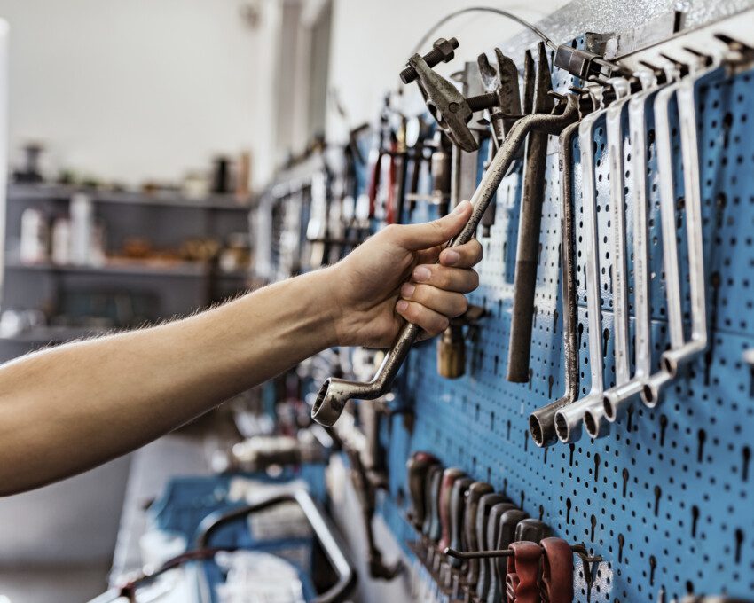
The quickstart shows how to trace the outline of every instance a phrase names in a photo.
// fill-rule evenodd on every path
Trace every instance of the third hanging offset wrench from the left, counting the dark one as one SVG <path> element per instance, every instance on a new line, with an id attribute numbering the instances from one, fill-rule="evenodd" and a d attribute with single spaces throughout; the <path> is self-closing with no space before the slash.
<path id="1" fill-rule="evenodd" d="M 642 82 L 644 74 L 636 74 Z M 654 77 L 652 79 L 655 79 Z M 624 83 L 628 86 L 628 82 Z M 613 223 L 613 333 L 616 384 L 608 389 L 604 396 L 616 388 L 622 388 L 631 380 L 628 342 L 628 264 L 626 262 L 626 227 L 625 227 L 625 165 L 624 165 L 624 116 L 625 108 L 631 101 L 631 90 L 621 90 L 622 97 L 608 107 L 605 118 L 605 130 L 608 137 L 609 177 L 610 177 L 610 217 Z M 643 163 L 635 171 L 644 173 Z M 586 433 L 598 438 L 609 433 L 609 423 L 605 417 L 604 396 L 602 402 L 588 408 L 584 413 Z"/>

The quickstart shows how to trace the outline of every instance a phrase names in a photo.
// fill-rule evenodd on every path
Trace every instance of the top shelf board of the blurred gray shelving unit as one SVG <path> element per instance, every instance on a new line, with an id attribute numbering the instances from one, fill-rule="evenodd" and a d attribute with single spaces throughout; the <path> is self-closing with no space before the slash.
<path id="1" fill-rule="evenodd" d="M 251 208 L 249 200 L 239 201 L 233 195 L 210 195 L 200 199 L 191 199 L 177 192 L 108 192 L 92 191 L 75 186 L 57 184 L 11 184 L 8 187 L 8 199 L 28 200 L 69 200 L 75 193 L 90 195 L 96 203 L 120 205 L 145 205 L 165 208 L 220 209 L 227 211 L 244 211 Z"/>

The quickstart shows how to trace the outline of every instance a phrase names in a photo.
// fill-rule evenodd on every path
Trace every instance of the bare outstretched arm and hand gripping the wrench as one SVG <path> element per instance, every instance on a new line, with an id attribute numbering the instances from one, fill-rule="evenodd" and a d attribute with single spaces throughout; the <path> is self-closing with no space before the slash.
<path id="1" fill-rule="evenodd" d="M 134 450 L 325 348 L 388 347 L 401 317 L 425 336 L 441 333 L 478 283 L 478 242 L 441 247 L 470 214 L 464 202 L 432 223 L 390 226 L 334 266 L 216 309 L 4 364 L 0 495 Z"/>

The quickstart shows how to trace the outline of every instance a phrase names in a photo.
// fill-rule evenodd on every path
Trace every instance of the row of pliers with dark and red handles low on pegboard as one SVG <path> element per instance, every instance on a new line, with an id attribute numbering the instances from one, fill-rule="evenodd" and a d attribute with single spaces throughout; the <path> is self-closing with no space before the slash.
<path id="1" fill-rule="evenodd" d="M 410 543 L 420 560 L 420 600 L 570 603 L 574 597 L 574 552 L 583 545 L 551 536 L 491 484 L 476 482 L 457 467 L 443 468 L 428 452 L 407 464 L 409 521 L 419 540 Z M 591 569 L 585 571 L 587 583 Z"/>

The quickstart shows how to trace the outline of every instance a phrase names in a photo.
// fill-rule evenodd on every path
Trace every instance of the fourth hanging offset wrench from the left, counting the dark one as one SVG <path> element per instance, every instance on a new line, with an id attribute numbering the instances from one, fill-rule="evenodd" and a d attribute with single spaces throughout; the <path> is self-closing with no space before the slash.
<path id="1" fill-rule="evenodd" d="M 643 72 L 642 72 L 643 73 Z M 651 85 L 651 84 L 650 84 Z M 649 231 L 647 194 L 647 106 L 656 90 L 640 92 L 628 102 L 628 129 L 633 163 L 633 307 L 636 314 L 633 377 L 605 392 L 602 410 L 614 422 L 652 371 L 651 315 L 649 312 Z"/>

